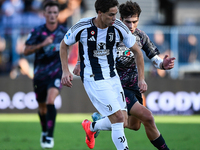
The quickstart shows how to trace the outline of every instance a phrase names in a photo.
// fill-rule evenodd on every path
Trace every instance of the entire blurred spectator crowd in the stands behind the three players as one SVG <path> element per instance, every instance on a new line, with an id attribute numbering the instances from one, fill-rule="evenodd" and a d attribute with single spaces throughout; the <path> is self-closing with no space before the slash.
<path id="1" fill-rule="evenodd" d="M 92 13 L 88 11 L 91 9 L 88 4 L 93 3 L 91 0 L 57 1 L 60 4 L 59 23 L 67 28 L 70 28 L 80 18 L 88 17 L 85 14 L 89 14 L 89 17 L 95 14 L 93 4 Z M 140 0 L 138 3 L 142 4 L 143 1 Z M 150 1 L 159 2 L 160 0 Z M 23 50 L 31 29 L 45 23 L 42 10 L 43 2 L 44 0 L 0 0 L 0 76 L 9 75 L 10 78 L 15 79 L 25 75 L 33 78 L 34 54 L 25 57 Z M 119 0 L 119 2 L 124 1 Z M 179 26 L 171 23 L 161 25 L 158 21 L 163 20 L 162 12 L 164 11 L 161 8 L 167 6 L 167 4 L 161 4 L 160 2 L 161 13 L 157 10 L 156 14 L 159 15 L 153 18 L 154 21 L 148 21 L 149 23 L 142 24 L 139 28 L 149 35 L 151 41 L 161 52 L 161 57 L 164 57 L 165 54 L 176 57 L 175 67 L 171 71 L 157 70 L 145 56 L 146 77 L 174 79 L 198 77 L 200 75 L 200 17 L 199 24 L 194 24 L 194 20 L 190 18 Z M 144 18 L 145 9 L 141 8 L 144 10 L 141 17 Z M 70 49 L 69 55 L 69 64 L 72 69 L 76 64 L 77 56 L 78 45 L 75 44 Z"/>

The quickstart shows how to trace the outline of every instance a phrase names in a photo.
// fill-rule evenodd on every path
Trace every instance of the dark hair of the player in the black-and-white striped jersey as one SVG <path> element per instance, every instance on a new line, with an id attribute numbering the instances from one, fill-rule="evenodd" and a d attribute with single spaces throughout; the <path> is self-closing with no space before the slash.
<path id="1" fill-rule="evenodd" d="M 95 2 L 95 9 L 96 13 L 101 11 L 103 13 L 108 12 L 110 8 L 117 6 L 119 3 L 117 0 L 96 0 Z"/>

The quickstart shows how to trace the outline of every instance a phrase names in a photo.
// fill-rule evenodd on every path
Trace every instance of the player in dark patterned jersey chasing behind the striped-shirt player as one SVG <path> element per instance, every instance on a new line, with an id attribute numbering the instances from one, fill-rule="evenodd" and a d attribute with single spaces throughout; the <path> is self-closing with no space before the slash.
<path id="1" fill-rule="evenodd" d="M 158 69 L 169 70 L 174 67 L 175 58 L 169 58 L 167 55 L 162 60 L 158 55 L 159 50 L 150 41 L 147 34 L 137 28 L 139 16 L 141 13 L 140 6 L 136 2 L 127 1 L 119 6 L 120 19 L 136 36 L 137 44 L 145 52 L 146 56 L 153 62 Z M 124 89 L 127 108 L 128 108 L 128 125 L 132 130 L 139 130 L 141 123 L 145 127 L 148 139 L 158 150 L 169 150 L 164 138 L 156 127 L 154 117 L 150 110 L 144 107 L 141 92 L 138 87 L 138 72 L 135 64 L 134 54 L 127 48 L 123 42 L 118 45 L 117 71 L 120 76 L 122 87 Z M 78 66 L 77 66 L 78 68 Z M 75 70 L 78 75 L 78 70 Z M 98 113 L 94 113 L 92 118 L 100 118 Z M 101 119 L 103 122 L 105 118 Z M 94 119 L 93 119 L 94 120 Z"/>

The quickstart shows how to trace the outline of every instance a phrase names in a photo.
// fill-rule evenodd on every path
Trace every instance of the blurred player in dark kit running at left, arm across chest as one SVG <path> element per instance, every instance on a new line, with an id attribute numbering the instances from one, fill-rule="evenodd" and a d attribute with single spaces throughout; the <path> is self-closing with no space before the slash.
<path id="1" fill-rule="evenodd" d="M 58 24 L 59 4 L 56 1 L 45 1 L 43 9 L 46 24 L 31 31 L 24 55 L 35 53 L 33 86 L 39 104 L 41 147 L 53 148 L 57 113 L 54 101 L 59 95 L 62 75 L 59 48 L 67 30 Z"/>

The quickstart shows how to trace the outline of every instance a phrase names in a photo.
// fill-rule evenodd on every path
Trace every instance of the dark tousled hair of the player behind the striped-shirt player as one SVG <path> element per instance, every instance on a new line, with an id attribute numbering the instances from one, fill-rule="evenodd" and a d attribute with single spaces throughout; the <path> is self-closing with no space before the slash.
<path id="1" fill-rule="evenodd" d="M 127 1 L 119 6 L 119 13 L 122 19 L 128 16 L 138 15 L 142 12 L 140 6 L 136 2 Z"/>

